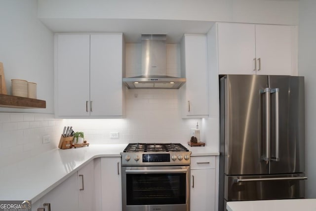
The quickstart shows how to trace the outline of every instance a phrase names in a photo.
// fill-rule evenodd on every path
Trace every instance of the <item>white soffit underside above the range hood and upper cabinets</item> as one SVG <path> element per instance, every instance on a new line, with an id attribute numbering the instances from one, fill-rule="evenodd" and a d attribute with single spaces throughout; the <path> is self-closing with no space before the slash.
<path id="1" fill-rule="evenodd" d="M 40 19 L 53 32 L 122 32 L 125 42 L 140 43 L 141 34 L 166 34 L 179 43 L 183 34 L 206 34 L 214 22 L 148 19 Z"/>

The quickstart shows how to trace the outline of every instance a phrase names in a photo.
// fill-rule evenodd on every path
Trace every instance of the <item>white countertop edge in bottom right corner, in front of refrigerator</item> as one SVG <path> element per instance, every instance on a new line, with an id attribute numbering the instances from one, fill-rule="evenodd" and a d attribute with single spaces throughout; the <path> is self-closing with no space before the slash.
<path id="1" fill-rule="evenodd" d="M 228 211 L 315 211 L 316 199 L 227 202 Z"/>

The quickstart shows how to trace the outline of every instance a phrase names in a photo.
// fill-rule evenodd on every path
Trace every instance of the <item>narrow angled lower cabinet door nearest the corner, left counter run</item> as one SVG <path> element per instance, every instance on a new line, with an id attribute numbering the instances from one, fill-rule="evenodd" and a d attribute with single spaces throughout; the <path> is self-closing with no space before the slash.
<path id="1" fill-rule="evenodd" d="M 95 211 L 93 172 L 93 160 L 77 172 L 80 211 Z"/>

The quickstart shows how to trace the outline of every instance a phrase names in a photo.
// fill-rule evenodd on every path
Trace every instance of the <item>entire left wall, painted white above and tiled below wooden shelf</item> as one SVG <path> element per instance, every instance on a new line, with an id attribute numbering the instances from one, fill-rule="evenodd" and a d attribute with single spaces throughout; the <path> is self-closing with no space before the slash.
<path id="1" fill-rule="evenodd" d="M 2 166 L 55 148 L 62 121 L 52 115 L 53 34 L 37 18 L 37 0 L 0 0 L 0 29 L 0 62 L 8 94 L 11 79 L 24 79 L 37 83 L 38 98 L 46 100 L 46 109 L 0 108 Z M 42 144 L 44 135 L 51 143 Z"/>

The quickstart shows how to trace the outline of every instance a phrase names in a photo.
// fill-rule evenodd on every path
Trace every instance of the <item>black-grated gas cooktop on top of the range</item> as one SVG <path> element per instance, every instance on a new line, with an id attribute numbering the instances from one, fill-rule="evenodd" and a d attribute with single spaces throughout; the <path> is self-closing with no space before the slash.
<path id="1" fill-rule="evenodd" d="M 180 143 L 129 143 L 123 152 L 189 152 Z"/>

